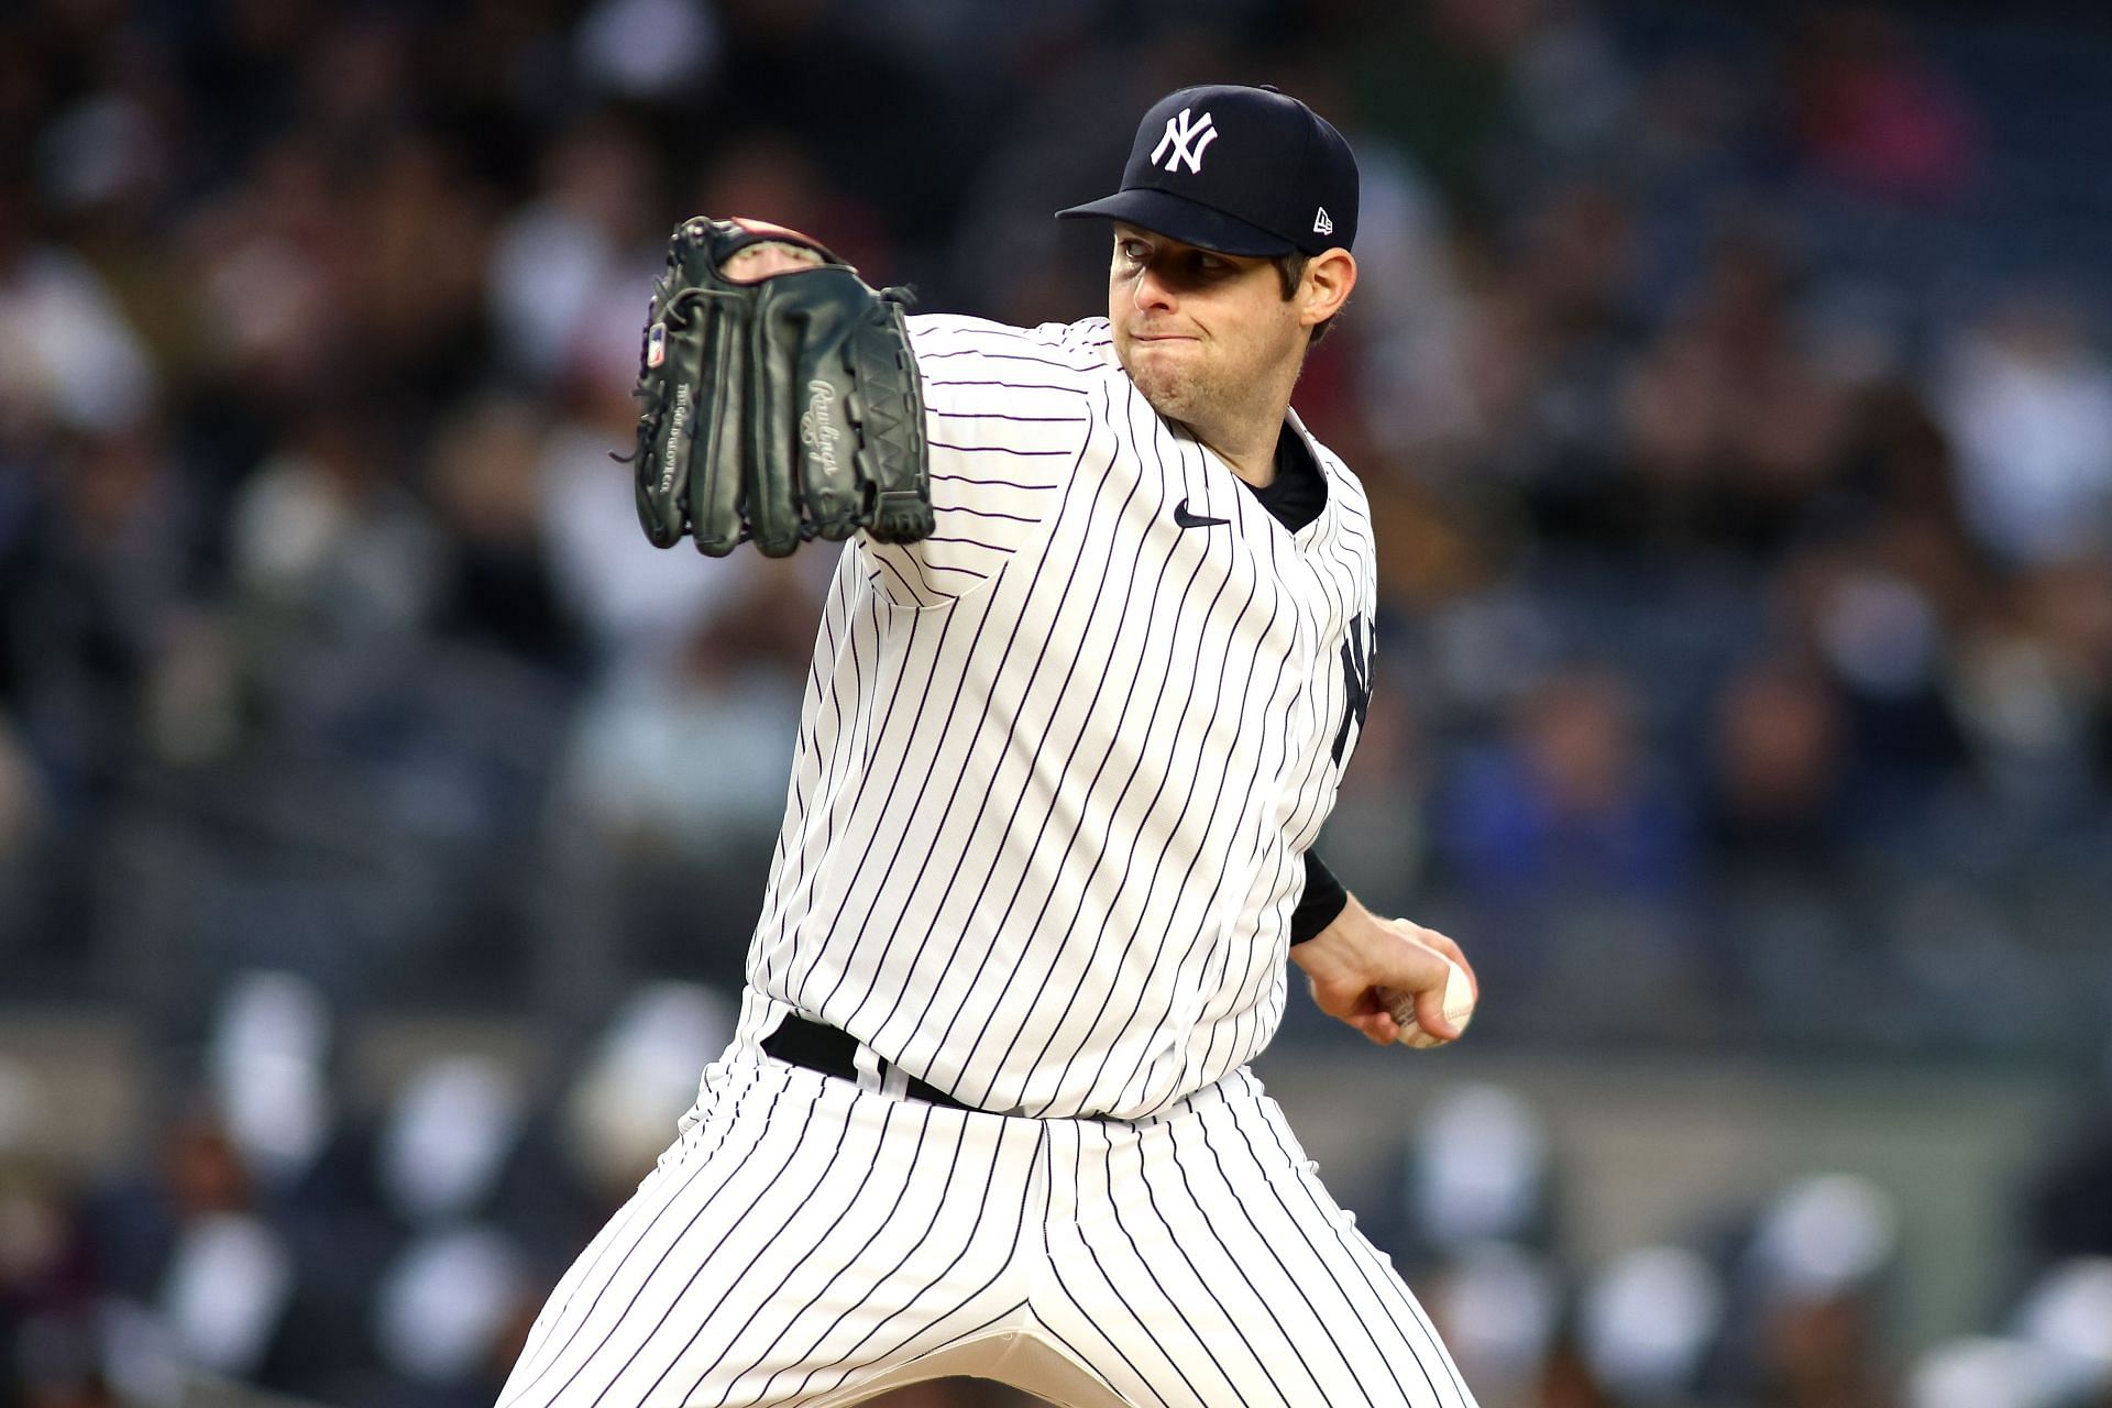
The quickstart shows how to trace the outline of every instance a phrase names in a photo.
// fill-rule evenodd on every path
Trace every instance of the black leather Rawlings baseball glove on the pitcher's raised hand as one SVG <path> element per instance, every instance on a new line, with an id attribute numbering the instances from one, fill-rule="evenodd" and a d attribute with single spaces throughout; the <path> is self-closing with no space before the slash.
<path id="1" fill-rule="evenodd" d="M 727 279 L 727 262 L 765 241 L 819 262 Z M 712 557 L 754 540 L 786 557 L 860 528 L 881 543 L 929 536 L 923 391 L 902 304 L 902 291 L 866 287 L 796 230 L 703 215 L 676 226 L 634 393 L 646 538 L 674 547 L 689 534 Z"/>

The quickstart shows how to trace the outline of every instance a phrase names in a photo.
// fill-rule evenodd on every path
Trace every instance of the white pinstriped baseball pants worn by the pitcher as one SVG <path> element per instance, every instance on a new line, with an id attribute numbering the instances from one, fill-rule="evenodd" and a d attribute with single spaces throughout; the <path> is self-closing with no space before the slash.
<path id="1" fill-rule="evenodd" d="M 834 1408 L 969 1374 L 1064 1408 L 1472 1408 L 1233 1072 L 1143 1121 L 895 1100 L 737 1053 L 551 1292 L 501 1408 Z"/>

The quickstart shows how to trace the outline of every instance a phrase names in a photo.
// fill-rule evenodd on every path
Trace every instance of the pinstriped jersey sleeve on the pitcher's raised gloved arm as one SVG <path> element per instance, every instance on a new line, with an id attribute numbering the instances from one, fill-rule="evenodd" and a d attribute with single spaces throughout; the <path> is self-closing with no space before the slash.
<path id="1" fill-rule="evenodd" d="M 898 606 L 978 591 L 1056 513 L 1092 431 L 1092 382 L 1109 365 L 1107 321 L 1007 327 L 917 315 L 910 348 L 931 445 L 931 536 L 857 547 Z"/>

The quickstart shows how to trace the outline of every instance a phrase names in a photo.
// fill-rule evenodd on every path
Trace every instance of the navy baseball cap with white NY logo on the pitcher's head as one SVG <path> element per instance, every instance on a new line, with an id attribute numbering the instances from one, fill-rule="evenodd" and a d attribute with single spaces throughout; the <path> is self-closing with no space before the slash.
<path id="1" fill-rule="evenodd" d="M 1219 253 L 1320 253 L 1356 241 L 1356 156 L 1318 112 L 1269 87 L 1168 93 L 1136 129 L 1121 190 L 1056 211 L 1100 215 Z"/>

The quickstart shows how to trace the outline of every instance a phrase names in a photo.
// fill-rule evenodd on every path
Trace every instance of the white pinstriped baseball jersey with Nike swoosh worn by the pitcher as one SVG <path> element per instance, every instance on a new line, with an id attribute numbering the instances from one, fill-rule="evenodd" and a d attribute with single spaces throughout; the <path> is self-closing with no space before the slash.
<path id="1" fill-rule="evenodd" d="M 1301 853 L 1356 745 L 1362 486 L 1288 532 L 1109 325 L 917 317 L 938 528 L 847 547 L 741 1039 L 796 1009 L 957 1100 L 1168 1108 L 1284 1009 Z"/>

